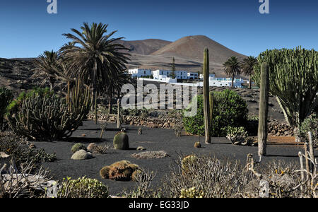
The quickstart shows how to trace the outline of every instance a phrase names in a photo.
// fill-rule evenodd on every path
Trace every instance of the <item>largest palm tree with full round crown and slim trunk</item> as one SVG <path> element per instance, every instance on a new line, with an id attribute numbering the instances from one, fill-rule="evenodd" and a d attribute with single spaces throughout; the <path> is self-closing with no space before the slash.
<path id="1" fill-rule="evenodd" d="M 98 84 L 107 84 L 117 78 L 117 72 L 126 69 L 125 64 L 129 60 L 129 54 L 124 53 L 127 50 L 123 45 L 116 41 L 124 37 L 111 38 L 113 31 L 109 35 L 107 26 L 102 23 L 83 23 L 82 33 L 76 29 L 71 29 L 71 33 L 63 34 L 66 38 L 72 40 L 73 45 L 64 45 L 61 47 L 61 54 L 66 61 L 70 61 L 70 68 L 76 71 L 76 76 L 83 78 L 83 81 L 93 87 L 93 98 L 95 99 L 95 124 L 97 123 L 97 97 Z"/>

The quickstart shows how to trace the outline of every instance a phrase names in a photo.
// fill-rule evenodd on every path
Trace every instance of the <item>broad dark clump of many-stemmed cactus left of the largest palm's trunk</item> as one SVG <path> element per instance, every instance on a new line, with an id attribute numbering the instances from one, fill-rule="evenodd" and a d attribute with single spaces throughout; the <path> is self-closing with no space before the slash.
<path id="1" fill-rule="evenodd" d="M 66 100 L 47 89 L 36 89 L 20 96 L 8 106 L 6 118 L 19 136 L 35 141 L 66 139 L 90 110 L 89 95 L 79 98 L 78 107 L 69 107 Z"/>

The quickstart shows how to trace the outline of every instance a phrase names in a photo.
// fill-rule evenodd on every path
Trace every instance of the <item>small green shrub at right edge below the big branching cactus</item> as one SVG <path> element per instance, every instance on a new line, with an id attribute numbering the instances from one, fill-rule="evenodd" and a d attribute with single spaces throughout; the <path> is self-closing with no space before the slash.
<path id="1" fill-rule="evenodd" d="M 308 142 L 308 131 L 312 132 L 312 142 L 314 146 L 318 146 L 318 116 L 312 114 L 302 122 L 300 126 L 300 137 Z"/>

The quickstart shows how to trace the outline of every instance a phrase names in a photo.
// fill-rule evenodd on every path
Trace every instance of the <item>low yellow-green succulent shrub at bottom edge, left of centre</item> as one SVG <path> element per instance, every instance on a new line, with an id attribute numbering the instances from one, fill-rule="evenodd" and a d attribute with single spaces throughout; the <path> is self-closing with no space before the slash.
<path id="1" fill-rule="evenodd" d="M 59 198 L 107 198 L 108 187 L 97 179 L 66 177 L 57 192 Z"/>

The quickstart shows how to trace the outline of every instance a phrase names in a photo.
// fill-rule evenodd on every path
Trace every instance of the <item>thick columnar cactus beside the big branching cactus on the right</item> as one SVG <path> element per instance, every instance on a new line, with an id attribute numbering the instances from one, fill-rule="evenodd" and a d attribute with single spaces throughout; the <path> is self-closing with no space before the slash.
<path id="1" fill-rule="evenodd" d="M 266 155 L 267 115 L 269 113 L 269 64 L 261 64 L 261 88 L 259 93 L 259 156 Z"/>

